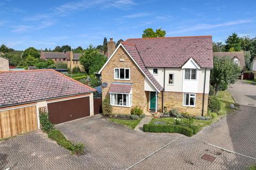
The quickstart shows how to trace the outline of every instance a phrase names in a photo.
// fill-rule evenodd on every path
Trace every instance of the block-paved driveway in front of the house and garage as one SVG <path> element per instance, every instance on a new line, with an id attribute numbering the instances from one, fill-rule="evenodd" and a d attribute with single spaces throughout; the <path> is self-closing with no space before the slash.
<path id="1" fill-rule="evenodd" d="M 256 162 L 255 108 L 241 105 L 190 138 L 136 132 L 99 116 L 84 118 L 57 128 L 84 143 L 85 155 L 70 155 L 38 130 L 0 141 L 0 169 L 244 169 Z M 215 160 L 203 160 L 203 154 Z"/>

